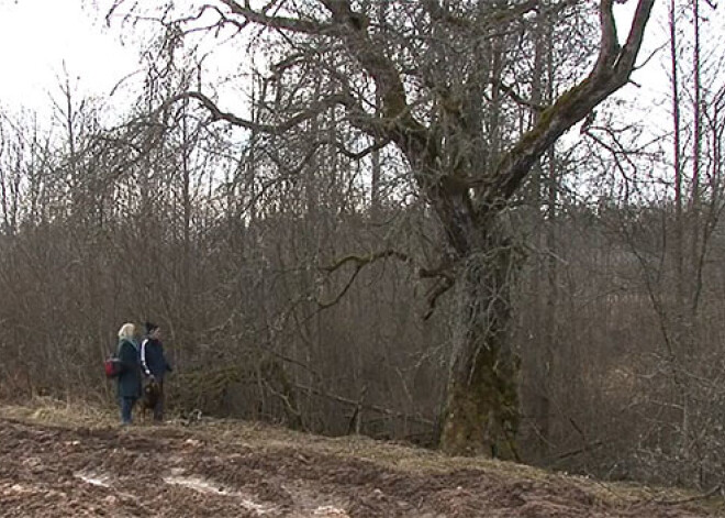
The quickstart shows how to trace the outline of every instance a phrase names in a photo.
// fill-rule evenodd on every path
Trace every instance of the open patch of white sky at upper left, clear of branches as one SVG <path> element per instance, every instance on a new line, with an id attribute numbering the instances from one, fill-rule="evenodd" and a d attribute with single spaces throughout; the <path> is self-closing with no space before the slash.
<path id="1" fill-rule="evenodd" d="M 51 96 L 59 96 L 64 60 L 79 96 L 107 96 L 138 68 L 136 52 L 122 46 L 82 3 L 0 0 L 0 107 L 48 108 Z"/>

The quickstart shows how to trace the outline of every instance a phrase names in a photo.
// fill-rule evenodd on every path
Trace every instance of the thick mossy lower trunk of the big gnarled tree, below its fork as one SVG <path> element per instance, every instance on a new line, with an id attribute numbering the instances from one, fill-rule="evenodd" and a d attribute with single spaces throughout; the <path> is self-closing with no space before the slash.
<path id="1" fill-rule="evenodd" d="M 507 341 L 511 246 L 470 254 L 456 280 L 457 322 L 440 449 L 517 459 L 518 360 Z"/>

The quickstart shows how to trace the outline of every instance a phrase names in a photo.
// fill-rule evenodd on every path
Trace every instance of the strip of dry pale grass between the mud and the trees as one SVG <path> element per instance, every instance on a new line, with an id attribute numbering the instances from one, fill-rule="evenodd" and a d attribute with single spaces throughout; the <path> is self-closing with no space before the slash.
<path id="1" fill-rule="evenodd" d="M 63 428 L 109 428 L 118 426 L 115 408 L 35 398 L 26 405 L 0 406 L 0 417 Z M 124 433 L 164 434 L 183 432 L 190 437 L 214 443 L 241 445 L 266 451 L 293 450 L 355 459 L 402 473 L 446 473 L 455 470 L 480 470 L 501 481 L 532 481 L 539 484 L 562 484 L 585 491 L 598 499 L 612 503 L 642 500 L 682 503 L 694 502 L 710 513 L 724 513 L 721 492 L 703 495 L 691 491 L 651 487 L 636 484 L 609 483 L 589 477 L 553 473 L 545 470 L 483 458 L 451 458 L 436 451 L 413 448 L 395 442 L 382 442 L 366 437 L 348 436 L 325 438 L 297 432 L 258 422 L 203 418 L 192 426 L 181 420 L 164 427 L 136 426 Z M 725 515 L 724 515 L 725 516 Z"/>

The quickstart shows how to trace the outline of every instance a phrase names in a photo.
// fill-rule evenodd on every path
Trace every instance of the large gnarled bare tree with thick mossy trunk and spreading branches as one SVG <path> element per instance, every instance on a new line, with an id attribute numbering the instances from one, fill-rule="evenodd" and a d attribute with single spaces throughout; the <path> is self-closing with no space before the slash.
<path id="1" fill-rule="evenodd" d="M 544 153 L 627 84 L 655 0 L 637 2 L 622 41 L 614 3 L 623 2 L 215 0 L 175 22 L 196 23 L 198 31 L 201 22 L 210 27 L 212 15 L 212 27 L 246 33 L 272 63 L 255 96 L 264 118 L 239 117 L 204 91 L 171 102 L 196 99 L 213 119 L 266 134 L 277 148 L 287 135 L 315 128 L 306 158 L 319 146 L 358 159 L 386 146 L 404 156 L 410 185 L 445 235 L 440 263 L 421 269 L 440 279 L 432 302 L 454 288 L 457 322 L 439 439 L 449 453 L 516 456 L 517 360 L 507 323 L 517 253 L 504 216 Z M 589 73 L 546 106 L 532 100 L 526 65 L 542 10 L 561 23 L 585 23 L 595 13 L 601 34 Z M 528 130 L 511 123 L 512 110 L 531 111 Z M 341 131 L 320 133 L 321 124 Z"/>

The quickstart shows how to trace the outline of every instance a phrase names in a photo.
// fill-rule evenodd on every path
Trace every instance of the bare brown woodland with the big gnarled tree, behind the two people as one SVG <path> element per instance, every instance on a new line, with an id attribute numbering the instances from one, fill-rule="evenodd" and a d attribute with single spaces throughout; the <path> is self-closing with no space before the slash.
<path id="1" fill-rule="evenodd" d="M 92 3 L 127 111 L 0 103 L 0 400 L 153 320 L 175 415 L 723 483 L 722 5 Z"/>

